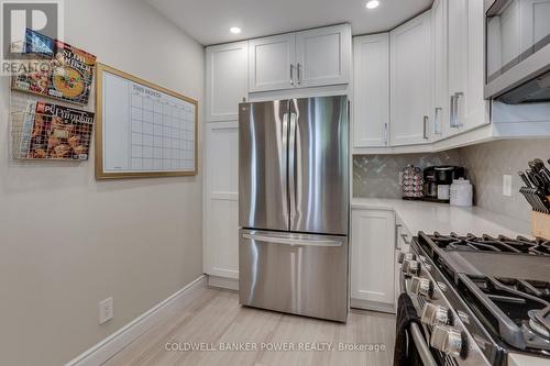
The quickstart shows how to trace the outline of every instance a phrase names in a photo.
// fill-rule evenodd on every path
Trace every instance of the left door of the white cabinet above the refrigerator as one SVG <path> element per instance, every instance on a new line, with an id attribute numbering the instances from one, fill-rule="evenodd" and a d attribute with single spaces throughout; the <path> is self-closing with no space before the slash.
<path id="1" fill-rule="evenodd" d="M 249 90 L 267 91 L 294 88 L 295 33 L 249 41 Z"/>

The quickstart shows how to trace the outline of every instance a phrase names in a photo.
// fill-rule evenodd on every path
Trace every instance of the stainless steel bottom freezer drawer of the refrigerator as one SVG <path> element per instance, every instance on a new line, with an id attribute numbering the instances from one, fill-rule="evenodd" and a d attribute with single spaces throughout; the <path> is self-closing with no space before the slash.
<path id="1" fill-rule="evenodd" d="M 348 237 L 241 230 L 245 306 L 345 322 Z"/>

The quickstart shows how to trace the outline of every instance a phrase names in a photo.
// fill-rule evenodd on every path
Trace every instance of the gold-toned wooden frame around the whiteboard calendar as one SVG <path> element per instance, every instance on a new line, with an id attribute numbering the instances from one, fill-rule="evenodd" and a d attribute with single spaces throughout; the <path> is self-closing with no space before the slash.
<path id="1" fill-rule="evenodd" d="M 103 74 L 109 73 L 119 76 L 133 84 L 153 89 L 160 93 L 170 96 L 195 106 L 194 117 L 194 168 L 193 170 L 158 170 L 158 171 L 106 171 L 103 166 Z M 113 67 L 97 63 L 96 65 L 96 179 L 125 179 L 125 178 L 155 178 L 155 177 L 185 177 L 196 176 L 198 173 L 198 101 L 168 90 L 136 76 L 118 70 Z"/>

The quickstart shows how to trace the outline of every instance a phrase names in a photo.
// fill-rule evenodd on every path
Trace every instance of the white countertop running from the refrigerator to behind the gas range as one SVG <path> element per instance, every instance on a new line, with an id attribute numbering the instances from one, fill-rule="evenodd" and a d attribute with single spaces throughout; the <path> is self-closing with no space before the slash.
<path id="1" fill-rule="evenodd" d="M 353 198 L 352 209 L 377 209 L 395 211 L 397 218 L 416 235 L 419 231 L 441 234 L 455 232 L 459 235 L 506 235 L 515 237 L 530 235 L 528 221 L 520 221 L 477 207 L 459 208 L 447 203 L 407 201 L 400 199 Z"/>

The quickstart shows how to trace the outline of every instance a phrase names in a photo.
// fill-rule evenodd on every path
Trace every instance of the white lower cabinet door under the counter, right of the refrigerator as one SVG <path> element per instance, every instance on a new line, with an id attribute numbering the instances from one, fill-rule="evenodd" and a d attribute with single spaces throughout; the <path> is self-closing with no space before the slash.
<path id="1" fill-rule="evenodd" d="M 393 307 L 394 212 L 353 210 L 351 235 L 351 298 Z"/>

